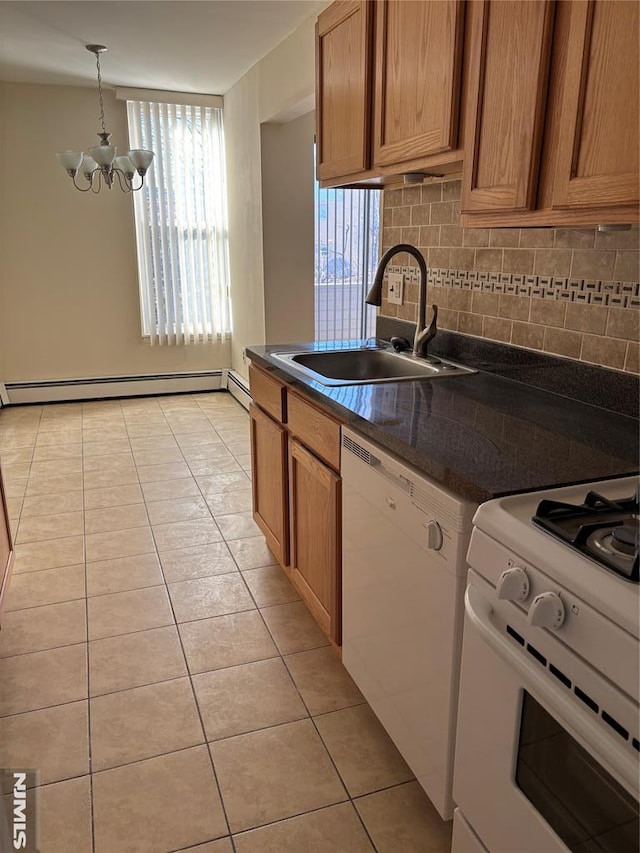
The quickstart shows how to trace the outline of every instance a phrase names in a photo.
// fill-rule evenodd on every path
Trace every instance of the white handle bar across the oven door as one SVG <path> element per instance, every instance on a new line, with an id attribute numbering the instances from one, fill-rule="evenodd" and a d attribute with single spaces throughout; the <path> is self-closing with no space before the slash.
<path id="1" fill-rule="evenodd" d="M 618 778 L 628 791 L 638 795 L 638 761 L 628 747 L 616 743 L 607 737 L 601 729 L 597 718 L 592 714 L 587 717 L 576 707 L 568 692 L 554 689 L 548 678 L 540 669 L 539 664 L 527 660 L 519 651 L 512 647 L 507 638 L 496 629 L 491 620 L 493 608 L 482 592 L 473 582 L 467 586 L 464 597 L 465 611 L 473 626 L 482 639 L 489 645 L 518 676 L 535 689 L 549 708 L 564 721 L 569 729 L 574 731 L 584 743 L 589 744 L 599 755 L 599 761 Z"/>

